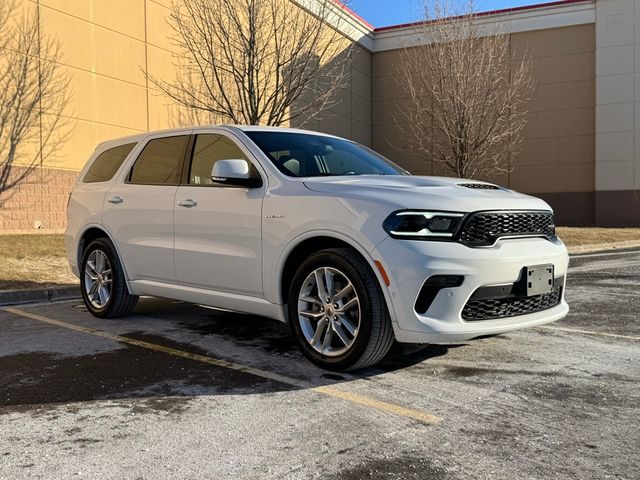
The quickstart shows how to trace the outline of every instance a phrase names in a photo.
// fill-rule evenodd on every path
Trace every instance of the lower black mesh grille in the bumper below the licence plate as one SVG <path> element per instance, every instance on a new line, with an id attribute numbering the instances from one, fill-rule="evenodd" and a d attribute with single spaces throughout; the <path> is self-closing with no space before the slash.
<path id="1" fill-rule="evenodd" d="M 505 297 L 471 299 L 462 310 L 464 320 L 475 322 L 515 317 L 555 307 L 562 299 L 562 287 L 551 293 L 532 297 Z"/>

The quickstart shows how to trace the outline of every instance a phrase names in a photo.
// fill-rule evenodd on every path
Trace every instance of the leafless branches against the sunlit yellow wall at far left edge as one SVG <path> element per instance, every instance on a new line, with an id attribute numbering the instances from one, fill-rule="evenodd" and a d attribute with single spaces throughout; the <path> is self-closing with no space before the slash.
<path id="1" fill-rule="evenodd" d="M 15 0 L 0 2 L 0 195 L 25 181 L 70 133 L 60 45 L 41 34 L 37 16 L 18 10 Z"/>

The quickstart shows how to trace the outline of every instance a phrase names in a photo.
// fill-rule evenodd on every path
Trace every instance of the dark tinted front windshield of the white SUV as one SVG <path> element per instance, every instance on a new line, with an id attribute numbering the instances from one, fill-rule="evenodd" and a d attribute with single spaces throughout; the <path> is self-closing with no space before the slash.
<path id="1" fill-rule="evenodd" d="M 292 132 L 245 132 L 290 177 L 409 175 L 382 155 L 341 138 Z"/>

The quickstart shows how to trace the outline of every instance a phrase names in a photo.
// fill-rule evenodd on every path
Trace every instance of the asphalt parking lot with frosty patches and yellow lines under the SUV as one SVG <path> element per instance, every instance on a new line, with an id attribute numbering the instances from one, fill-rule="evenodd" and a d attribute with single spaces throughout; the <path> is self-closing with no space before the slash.
<path id="1" fill-rule="evenodd" d="M 640 478 L 640 251 L 574 257 L 567 298 L 357 374 L 193 305 L 1 309 L 0 478 Z"/>

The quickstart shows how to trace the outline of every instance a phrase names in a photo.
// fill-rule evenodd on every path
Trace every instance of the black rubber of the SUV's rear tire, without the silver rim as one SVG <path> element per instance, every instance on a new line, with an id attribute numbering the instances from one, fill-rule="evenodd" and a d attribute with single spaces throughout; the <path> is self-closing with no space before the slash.
<path id="1" fill-rule="evenodd" d="M 111 295 L 102 306 L 95 306 L 89 299 L 87 286 L 85 285 L 85 269 L 87 261 L 93 252 L 102 252 L 106 255 L 111 266 Z M 131 295 L 127 289 L 124 277 L 124 269 L 118 258 L 115 247 L 108 238 L 98 238 L 85 248 L 80 262 L 80 290 L 87 310 L 99 318 L 125 317 L 131 313 L 138 303 L 138 297 Z"/>

